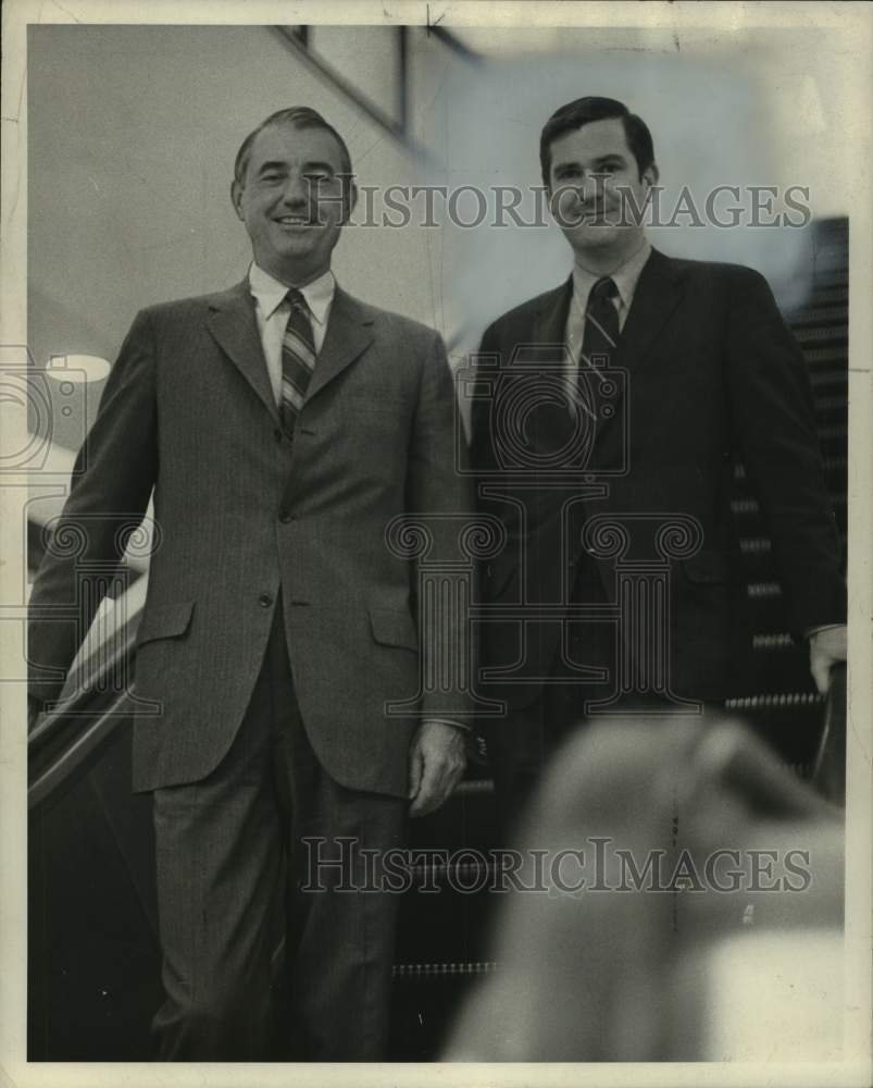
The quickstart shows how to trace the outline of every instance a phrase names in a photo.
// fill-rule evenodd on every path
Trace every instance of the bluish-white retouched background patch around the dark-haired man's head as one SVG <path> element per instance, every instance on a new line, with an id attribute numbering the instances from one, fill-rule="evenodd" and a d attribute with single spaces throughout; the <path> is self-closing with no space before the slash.
<path id="1" fill-rule="evenodd" d="M 495 188 L 521 188 L 526 198 L 520 214 L 534 220 L 533 190 L 542 184 L 541 127 L 558 107 L 584 95 L 621 99 L 646 120 L 668 220 L 685 186 L 701 214 L 708 194 L 723 185 L 739 186 L 747 208 L 749 186 L 805 186 L 816 218 L 846 214 L 851 206 L 858 148 L 840 107 L 852 101 L 852 73 L 840 65 L 834 40 L 823 42 L 821 34 L 773 32 L 734 40 L 701 32 L 684 35 L 681 50 L 666 29 L 461 36 L 483 49 L 484 59 L 440 82 L 427 120 L 428 143 L 445 152 L 433 181 L 476 186 L 489 197 L 484 223 L 447 223 L 440 237 L 446 324 L 464 331 L 462 347 L 475 347 L 496 316 L 570 272 L 572 252 L 548 215 L 542 225 L 519 228 L 504 218 L 502 228 L 494 227 Z M 723 221 L 731 202 L 725 196 L 718 205 Z M 778 199 L 775 207 L 784 210 Z M 473 218 L 472 202 L 463 213 Z M 750 225 L 749 218 L 724 228 L 691 226 L 690 217 L 679 214 L 649 236 L 673 256 L 751 265 L 768 276 L 784 307 L 801 304 L 812 232 Z"/>

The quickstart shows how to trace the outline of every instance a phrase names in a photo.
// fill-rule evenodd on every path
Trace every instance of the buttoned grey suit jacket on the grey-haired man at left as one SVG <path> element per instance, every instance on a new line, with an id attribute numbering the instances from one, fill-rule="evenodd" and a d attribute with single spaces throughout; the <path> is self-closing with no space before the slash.
<path id="1" fill-rule="evenodd" d="M 51 548 L 38 571 L 32 692 L 57 696 L 101 595 L 82 565 L 117 562 L 153 489 L 136 693 L 163 709 L 135 720 L 135 789 L 196 781 L 217 765 L 280 592 L 317 756 L 345 786 L 406 795 L 416 721 L 386 715 L 385 704 L 415 696 L 420 657 L 438 647 L 420 643 L 415 570 L 391 554 L 385 530 L 406 511 L 464 510 L 454 418 L 439 336 L 339 288 L 292 442 L 279 429 L 246 282 L 144 310 L 55 534 L 68 540 L 78 522 L 87 539 L 75 555 Z M 77 629 L 51 613 L 74 599 Z M 434 709 L 446 716 L 451 696 Z"/>

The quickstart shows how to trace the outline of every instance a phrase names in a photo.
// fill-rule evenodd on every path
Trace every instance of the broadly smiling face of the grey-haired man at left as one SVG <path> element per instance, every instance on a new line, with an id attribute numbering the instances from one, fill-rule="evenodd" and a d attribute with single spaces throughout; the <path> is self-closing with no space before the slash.
<path id="1" fill-rule="evenodd" d="M 258 133 L 230 197 L 265 272 L 302 287 L 329 269 L 357 197 L 340 176 L 345 169 L 339 144 L 324 128 L 286 123 Z"/>

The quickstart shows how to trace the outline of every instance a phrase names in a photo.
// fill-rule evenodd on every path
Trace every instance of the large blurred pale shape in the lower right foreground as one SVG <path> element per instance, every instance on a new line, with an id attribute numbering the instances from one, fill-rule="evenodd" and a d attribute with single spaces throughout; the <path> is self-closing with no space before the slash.
<path id="1" fill-rule="evenodd" d="M 593 727 L 552 763 L 520 845 L 528 878 L 534 852 L 584 850 L 585 888 L 547 865 L 547 892 L 506 897 L 497 970 L 444 1060 L 839 1058 L 844 814 L 743 725 Z"/>

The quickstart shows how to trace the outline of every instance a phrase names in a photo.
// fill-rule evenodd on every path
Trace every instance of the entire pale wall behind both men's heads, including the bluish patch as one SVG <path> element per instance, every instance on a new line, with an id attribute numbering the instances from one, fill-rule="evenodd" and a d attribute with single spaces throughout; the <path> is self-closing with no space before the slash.
<path id="1" fill-rule="evenodd" d="M 315 27 L 312 41 L 384 109 L 394 101 L 392 27 Z M 835 33 L 835 32 L 834 32 Z M 668 206 L 684 184 L 800 184 L 818 215 L 845 212 L 858 139 L 845 123 L 855 69 L 816 32 L 736 36 L 513 30 L 466 37 L 471 64 L 424 28 L 409 36 L 417 162 L 265 27 L 39 26 L 29 49 L 29 343 L 113 358 L 140 307 L 238 280 L 248 239 L 228 199 L 242 137 L 294 103 L 347 137 L 361 185 L 449 188 L 540 184 L 545 119 L 583 94 L 622 98 L 650 123 Z M 869 161 L 869 160 L 868 160 Z M 491 202 L 492 202 L 491 196 Z M 467 208 L 465 205 L 464 208 Z M 383 206 L 376 200 L 376 210 Z M 421 201 L 415 206 L 421 212 Z M 856 209 L 857 211 L 857 209 Z M 347 228 L 342 284 L 456 339 L 454 361 L 510 306 L 557 284 L 571 254 L 557 227 Z M 679 256 L 748 263 L 781 299 L 802 294 L 805 232 L 674 227 L 652 232 Z M 102 383 L 55 413 L 82 438 Z M 86 411 L 87 408 L 87 411 Z"/>

